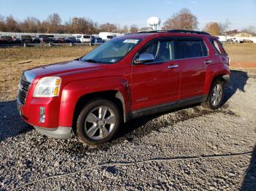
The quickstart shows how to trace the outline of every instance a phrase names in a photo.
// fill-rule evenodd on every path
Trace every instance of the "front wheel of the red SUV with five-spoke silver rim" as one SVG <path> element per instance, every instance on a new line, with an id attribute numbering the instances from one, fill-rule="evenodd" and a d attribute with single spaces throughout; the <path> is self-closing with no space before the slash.
<path id="1" fill-rule="evenodd" d="M 118 106 L 106 99 L 94 99 L 81 110 L 76 135 L 83 143 L 97 146 L 113 139 L 121 124 Z"/>

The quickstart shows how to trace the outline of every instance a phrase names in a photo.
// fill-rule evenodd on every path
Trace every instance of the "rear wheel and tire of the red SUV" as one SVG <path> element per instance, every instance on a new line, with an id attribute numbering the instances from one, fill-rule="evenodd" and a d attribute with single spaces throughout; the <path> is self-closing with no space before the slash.
<path id="1" fill-rule="evenodd" d="M 202 103 L 202 106 L 208 109 L 218 109 L 220 106 L 222 106 L 225 95 L 224 85 L 225 82 L 223 80 L 215 80 L 214 84 L 211 86 L 208 98 L 206 102 Z"/>

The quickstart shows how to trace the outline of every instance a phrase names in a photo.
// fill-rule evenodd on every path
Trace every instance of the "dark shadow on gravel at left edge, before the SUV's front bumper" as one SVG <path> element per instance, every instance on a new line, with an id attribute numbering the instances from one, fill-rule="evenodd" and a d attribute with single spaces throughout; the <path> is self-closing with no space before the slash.
<path id="1" fill-rule="evenodd" d="M 18 114 L 16 101 L 0 102 L 0 141 L 29 130 L 32 128 Z"/>

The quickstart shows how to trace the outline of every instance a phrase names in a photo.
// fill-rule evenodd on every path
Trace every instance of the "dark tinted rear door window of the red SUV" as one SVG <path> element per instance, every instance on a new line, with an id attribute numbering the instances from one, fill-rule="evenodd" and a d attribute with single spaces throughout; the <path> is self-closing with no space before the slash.
<path id="1" fill-rule="evenodd" d="M 178 46 L 180 49 L 180 58 L 196 58 L 208 54 L 206 45 L 200 40 L 178 41 Z"/>

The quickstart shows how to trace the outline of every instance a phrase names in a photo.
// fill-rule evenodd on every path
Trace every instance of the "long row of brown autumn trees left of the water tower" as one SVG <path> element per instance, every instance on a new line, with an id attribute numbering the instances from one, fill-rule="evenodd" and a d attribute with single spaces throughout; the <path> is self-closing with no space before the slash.
<path id="1" fill-rule="evenodd" d="M 118 24 L 98 24 L 86 17 L 72 17 L 62 23 L 57 13 L 50 14 L 46 20 L 39 20 L 36 17 L 27 17 L 19 22 L 12 15 L 3 17 L 0 15 L 0 31 L 2 32 L 23 32 L 23 33 L 52 33 L 52 34 L 99 34 L 101 31 L 117 33 L 135 33 L 138 26 L 120 27 Z"/>

